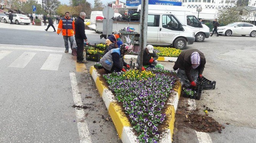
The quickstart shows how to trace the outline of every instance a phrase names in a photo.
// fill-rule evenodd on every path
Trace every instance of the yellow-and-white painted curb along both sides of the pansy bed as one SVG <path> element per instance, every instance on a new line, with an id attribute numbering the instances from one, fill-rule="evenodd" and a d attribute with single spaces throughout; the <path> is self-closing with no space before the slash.
<path id="1" fill-rule="evenodd" d="M 118 105 L 112 92 L 102 84 L 102 81 L 99 79 L 100 75 L 97 73 L 96 68 L 92 66 L 90 68 L 90 73 L 115 125 L 118 137 L 122 140 L 123 143 L 137 143 L 137 137 L 133 133 L 131 124 L 128 118 L 126 118 L 122 106 Z M 169 101 L 167 103 L 167 110 L 165 114 L 169 126 L 164 129 L 166 132 L 160 135 L 160 137 L 162 137 L 160 138 L 160 143 L 172 143 L 175 111 L 177 110 L 178 100 L 181 93 L 181 84 L 180 82 L 178 84 L 178 89 L 173 89 L 174 91 L 170 95 Z"/>

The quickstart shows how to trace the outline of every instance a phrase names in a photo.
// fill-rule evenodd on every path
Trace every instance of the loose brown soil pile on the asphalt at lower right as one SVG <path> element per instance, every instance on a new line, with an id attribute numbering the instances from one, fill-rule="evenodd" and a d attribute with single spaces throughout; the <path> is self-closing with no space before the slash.
<path id="1" fill-rule="evenodd" d="M 195 129 L 198 132 L 216 132 L 221 133 L 222 129 L 225 129 L 222 124 L 216 122 L 213 118 L 206 115 L 199 115 L 191 113 L 188 118 L 184 119 L 184 122 L 191 128 Z"/>

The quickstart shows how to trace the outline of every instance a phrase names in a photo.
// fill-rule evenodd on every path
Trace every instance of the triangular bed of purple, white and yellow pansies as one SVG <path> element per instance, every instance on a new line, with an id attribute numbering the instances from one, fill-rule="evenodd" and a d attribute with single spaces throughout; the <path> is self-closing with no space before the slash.
<path id="1" fill-rule="evenodd" d="M 139 142 L 159 141 L 159 125 L 165 121 L 165 104 L 175 84 L 172 71 L 129 70 L 104 75 L 115 99 L 122 104 Z"/>

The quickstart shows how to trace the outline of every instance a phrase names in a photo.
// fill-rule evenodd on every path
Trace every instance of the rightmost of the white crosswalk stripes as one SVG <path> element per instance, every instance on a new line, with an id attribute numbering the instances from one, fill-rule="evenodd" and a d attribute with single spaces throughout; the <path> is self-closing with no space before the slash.
<path id="1" fill-rule="evenodd" d="M 61 54 L 50 54 L 44 65 L 40 68 L 41 70 L 58 70 L 60 61 L 62 60 Z"/>

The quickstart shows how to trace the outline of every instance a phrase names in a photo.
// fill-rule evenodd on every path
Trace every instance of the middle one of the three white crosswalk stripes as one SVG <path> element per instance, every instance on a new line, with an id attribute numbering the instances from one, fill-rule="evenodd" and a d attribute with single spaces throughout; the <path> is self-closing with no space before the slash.
<path id="1" fill-rule="evenodd" d="M 11 65 L 8 67 L 24 68 L 29 61 L 35 56 L 35 52 L 23 52 Z"/>

